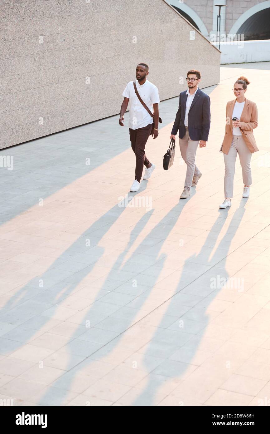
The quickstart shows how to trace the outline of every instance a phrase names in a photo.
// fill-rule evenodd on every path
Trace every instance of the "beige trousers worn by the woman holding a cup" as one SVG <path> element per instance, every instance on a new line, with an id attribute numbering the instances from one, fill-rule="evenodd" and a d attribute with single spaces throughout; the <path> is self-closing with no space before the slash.
<path id="1" fill-rule="evenodd" d="M 252 153 L 247 148 L 242 136 L 233 135 L 228 154 L 223 154 L 225 163 L 224 197 L 233 196 L 237 153 L 242 167 L 243 182 L 245 185 L 251 184 L 250 160 Z"/>

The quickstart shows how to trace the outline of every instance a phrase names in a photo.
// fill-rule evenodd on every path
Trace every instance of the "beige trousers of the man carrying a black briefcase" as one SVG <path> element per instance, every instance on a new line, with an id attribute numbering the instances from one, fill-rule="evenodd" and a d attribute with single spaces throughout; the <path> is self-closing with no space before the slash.
<path id="1" fill-rule="evenodd" d="M 191 140 L 189 137 L 189 129 L 185 127 L 185 135 L 179 137 L 180 152 L 185 164 L 187 165 L 185 176 L 185 189 L 190 190 L 193 176 L 200 174 L 199 169 L 195 164 L 195 155 L 198 148 L 199 140 Z"/>

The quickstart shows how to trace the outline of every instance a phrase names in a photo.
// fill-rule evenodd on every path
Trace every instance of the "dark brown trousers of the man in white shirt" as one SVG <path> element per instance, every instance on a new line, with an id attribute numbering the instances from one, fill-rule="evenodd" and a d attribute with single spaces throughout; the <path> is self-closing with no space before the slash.
<path id="1" fill-rule="evenodd" d="M 143 174 L 143 165 L 149 166 L 150 161 L 145 155 L 145 145 L 148 137 L 150 136 L 150 132 L 152 130 L 153 124 L 146 125 L 143 128 L 137 128 L 137 130 L 133 130 L 130 128 L 130 141 L 131 148 L 133 152 L 135 152 L 136 156 L 136 168 L 135 168 L 135 179 L 141 179 Z"/>

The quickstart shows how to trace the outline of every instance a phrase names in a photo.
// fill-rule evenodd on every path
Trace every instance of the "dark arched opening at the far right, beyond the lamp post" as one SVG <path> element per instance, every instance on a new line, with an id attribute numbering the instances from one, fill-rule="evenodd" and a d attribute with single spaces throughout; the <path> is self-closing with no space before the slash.
<path id="1" fill-rule="evenodd" d="M 239 27 L 236 34 L 244 34 L 244 40 L 270 39 L 270 8 L 260 10 Z"/>

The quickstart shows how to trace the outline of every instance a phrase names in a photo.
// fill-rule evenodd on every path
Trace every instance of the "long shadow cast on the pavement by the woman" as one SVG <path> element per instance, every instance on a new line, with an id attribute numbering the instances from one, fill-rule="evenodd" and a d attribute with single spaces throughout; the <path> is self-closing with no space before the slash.
<path id="1" fill-rule="evenodd" d="M 198 255 L 193 255 L 192 259 L 186 260 L 185 265 L 182 267 L 174 295 L 164 303 L 164 306 L 156 309 L 157 311 L 162 309 L 163 315 L 166 318 L 171 317 L 171 325 L 165 328 L 161 322 L 149 344 L 145 345 L 142 351 L 143 366 L 141 366 L 141 369 L 150 372 L 150 375 L 147 378 L 146 386 L 141 391 L 137 391 L 137 397 L 131 405 L 156 405 L 166 396 L 158 396 L 159 389 L 166 388 L 166 383 L 173 379 L 182 380 L 182 382 L 180 384 L 177 384 L 177 382 L 175 385 L 172 384 L 170 391 L 173 391 L 177 387 L 181 388 L 181 385 L 185 383 L 185 377 L 188 378 L 200 365 L 198 360 L 195 360 L 195 356 L 202 341 L 204 331 L 209 324 L 207 309 L 214 299 L 214 297 L 209 297 L 209 295 L 215 293 L 216 296 L 223 287 L 226 287 L 225 280 L 221 279 L 227 280 L 231 277 L 226 271 L 225 266 L 223 271 L 221 268 L 215 269 L 215 266 L 218 267 L 217 264 L 221 260 L 226 260 L 230 243 L 233 241 L 237 228 L 244 216 L 245 209 L 241 205 L 243 203 L 234 212 L 224 237 L 218 242 L 217 247 L 215 247 L 220 230 L 226 221 L 226 218 L 224 218 L 219 223 L 218 217 L 212 227 L 215 230 L 209 231 L 208 237 Z M 224 216 L 224 211 L 221 211 L 221 216 L 222 214 Z M 237 220 L 235 220 L 235 217 L 237 217 Z M 230 241 L 227 240 L 228 236 L 230 237 Z M 209 242 L 212 244 L 212 247 L 208 247 Z M 206 250 L 205 247 L 207 247 Z M 209 269 L 200 276 L 193 276 L 190 282 L 186 283 L 186 273 L 191 272 L 191 264 L 196 270 L 196 263 L 209 266 Z M 210 279 L 215 279 L 217 283 L 216 288 L 215 286 L 211 286 Z M 223 285 L 219 286 L 218 282 L 220 281 L 223 282 Z M 196 306 L 198 307 L 197 311 Z M 177 312 L 180 315 L 176 319 Z M 162 355 L 164 361 L 157 364 L 156 368 L 153 368 L 153 358 L 162 357 Z M 209 377 L 211 377 L 211 372 L 209 372 Z M 205 381 L 207 382 L 207 378 Z M 221 378 L 221 384 L 223 382 L 224 380 Z M 194 388 L 196 389 L 196 385 L 194 385 Z M 169 391 L 166 393 L 169 395 Z M 196 390 L 193 390 L 194 402 L 194 396 L 199 393 L 200 391 L 196 392 Z M 172 405 L 179 405 L 179 403 L 184 403 L 185 405 L 185 401 L 185 398 L 181 398 L 181 392 L 178 392 L 177 397 L 175 397 L 175 403 Z"/>

